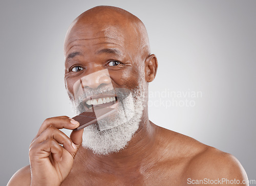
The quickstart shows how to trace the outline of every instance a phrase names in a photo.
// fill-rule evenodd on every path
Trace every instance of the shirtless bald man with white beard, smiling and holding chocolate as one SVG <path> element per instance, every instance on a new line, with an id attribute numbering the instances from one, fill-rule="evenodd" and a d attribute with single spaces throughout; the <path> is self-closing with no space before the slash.
<path id="1" fill-rule="evenodd" d="M 82 13 L 67 32 L 65 56 L 77 113 L 115 112 L 81 130 L 66 116 L 46 119 L 30 145 L 30 165 L 8 185 L 247 185 L 235 157 L 148 119 L 158 63 L 136 16 L 109 6 Z M 61 128 L 73 130 L 70 137 Z"/>

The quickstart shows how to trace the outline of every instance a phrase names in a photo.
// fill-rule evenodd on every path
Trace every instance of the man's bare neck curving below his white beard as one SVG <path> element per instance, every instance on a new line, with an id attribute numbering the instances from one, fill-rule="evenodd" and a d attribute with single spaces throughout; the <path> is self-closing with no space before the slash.
<path id="1" fill-rule="evenodd" d="M 131 171 L 143 171 L 143 167 L 146 168 L 148 162 L 154 162 L 149 160 L 154 153 L 155 136 L 156 126 L 148 120 L 146 114 L 125 149 L 110 155 L 95 155 L 91 150 L 80 147 L 80 153 L 77 154 L 79 162 L 84 162 L 83 166 L 96 172 L 124 174 Z"/>

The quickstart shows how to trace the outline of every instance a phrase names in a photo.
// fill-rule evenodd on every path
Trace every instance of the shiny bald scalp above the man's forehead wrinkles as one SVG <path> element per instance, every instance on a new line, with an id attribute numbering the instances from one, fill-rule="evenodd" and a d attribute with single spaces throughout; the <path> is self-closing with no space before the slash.
<path id="1" fill-rule="evenodd" d="M 143 22 L 121 8 L 98 6 L 83 12 L 71 24 L 65 38 L 65 53 L 69 44 L 79 38 L 93 39 L 103 33 L 106 39 L 120 40 L 133 49 L 134 55 L 150 55 L 150 44 Z"/>

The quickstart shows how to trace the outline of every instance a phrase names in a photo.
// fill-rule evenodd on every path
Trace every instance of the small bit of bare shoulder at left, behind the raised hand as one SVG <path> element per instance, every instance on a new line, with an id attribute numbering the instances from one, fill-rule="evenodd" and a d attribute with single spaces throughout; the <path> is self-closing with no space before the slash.
<path id="1" fill-rule="evenodd" d="M 10 179 L 7 186 L 30 185 L 30 166 L 19 169 Z"/>

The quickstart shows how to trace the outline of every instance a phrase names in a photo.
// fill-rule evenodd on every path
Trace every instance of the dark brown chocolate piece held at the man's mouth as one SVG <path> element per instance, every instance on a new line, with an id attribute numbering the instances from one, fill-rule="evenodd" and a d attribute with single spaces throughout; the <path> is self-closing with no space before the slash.
<path id="1" fill-rule="evenodd" d="M 97 120 L 101 120 L 108 116 L 109 114 L 115 111 L 114 108 L 95 106 L 89 110 L 76 115 L 73 119 L 79 122 L 79 127 L 74 130 L 80 130 L 84 127 L 87 127 L 93 123 L 96 123 Z"/>

